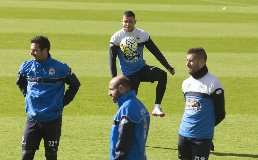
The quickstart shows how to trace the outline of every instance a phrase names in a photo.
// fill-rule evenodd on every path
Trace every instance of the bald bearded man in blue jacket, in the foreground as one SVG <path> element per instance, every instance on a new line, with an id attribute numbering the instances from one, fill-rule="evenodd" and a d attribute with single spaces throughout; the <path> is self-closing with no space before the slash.
<path id="1" fill-rule="evenodd" d="M 114 77 L 108 95 L 118 105 L 110 134 L 110 160 L 146 159 L 150 115 L 136 98 L 129 79 L 122 75 Z"/>

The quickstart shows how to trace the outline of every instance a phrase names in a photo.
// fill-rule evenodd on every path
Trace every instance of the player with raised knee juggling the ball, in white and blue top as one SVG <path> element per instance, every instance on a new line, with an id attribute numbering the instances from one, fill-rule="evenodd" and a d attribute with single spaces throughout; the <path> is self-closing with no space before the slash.
<path id="1" fill-rule="evenodd" d="M 171 67 L 158 47 L 151 40 L 149 34 L 141 29 L 135 28 L 135 14 L 132 11 L 126 11 L 123 14 L 122 24 L 123 29 L 115 33 L 110 40 L 109 47 L 109 65 L 112 77 L 117 76 L 116 57 L 118 56 L 121 74 L 130 79 L 132 89 L 138 93 L 140 82 L 158 81 L 156 87 L 156 101 L 152 115 L 164 117 L 165 113 L 160 108 L 163 99 L 166 85 L 167 73 L 154 66 L 148 66 L 143 59 L 143 48 L 146 48 L 158 59 L 158 61 L 169 71 L 170 74 L 175 74 L 175 69 Z M 124 37 L 133 37 L 138 43 L 136 51 L 132 54 L 126 54 L 120 50 L 120 41 Z"/>

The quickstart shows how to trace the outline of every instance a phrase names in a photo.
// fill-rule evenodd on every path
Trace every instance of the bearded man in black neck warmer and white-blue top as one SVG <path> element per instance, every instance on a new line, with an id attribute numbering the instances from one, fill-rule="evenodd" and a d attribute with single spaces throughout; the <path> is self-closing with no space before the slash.
<path id="1" fill-rule="evenodd" d="M 182 84 L 186 106 L 179 128 L 178 158 L 209 158 L 213 146 L 214 126 L 225 118 L 224 89 L 208 72 L 207 55 L 203 48 L 187 52 L 188 73 Z"/>

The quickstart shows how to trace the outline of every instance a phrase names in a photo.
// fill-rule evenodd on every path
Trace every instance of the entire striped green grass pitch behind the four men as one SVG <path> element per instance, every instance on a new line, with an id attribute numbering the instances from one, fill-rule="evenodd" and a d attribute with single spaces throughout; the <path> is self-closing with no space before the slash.
<path id="1" fill-rule="evenodd" d="M 147 158 L 178 159 L 186 51 L 201 46 L 209 72 L 225 89 L 226 118 L 215 127 L 210 159 L 258 159 L 257 0 L 0 0 L 0 159 L 21 158 L 27 116 L 15 81 L 21 63 L 32 58 L 29 40 L 38 35 L 49 37 L 52 57 L 66 62 L 82 84 L 63 111 L 58 158 L 109 159 L 117 111 L 108 96 L 109 42 L 123 27 L 126 10 L 134 11 L 135 26 L 150 34 L 176 72 L 168 76 L 162 102 L 166 116 L 151 117 Z M 146 49 L 144 59 L 165 70 Z M 149 113 L 156 84 L 142 82 L 139 88 Z M 43 143 L 35 159 L 44 159 Z"/>

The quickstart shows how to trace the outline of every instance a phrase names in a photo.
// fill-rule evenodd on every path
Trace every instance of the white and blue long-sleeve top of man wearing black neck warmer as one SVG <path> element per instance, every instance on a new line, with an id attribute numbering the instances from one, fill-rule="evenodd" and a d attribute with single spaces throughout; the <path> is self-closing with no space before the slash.
<path id="1" fill-rule="evenodd" d="M 186 106 L 179 134 L 189 138 L 213 139 L 214 126 L 225 118 L 222 84 L 207 72 L 201 78 L 191 76 L 186 79 L 182 90 Z"/>

